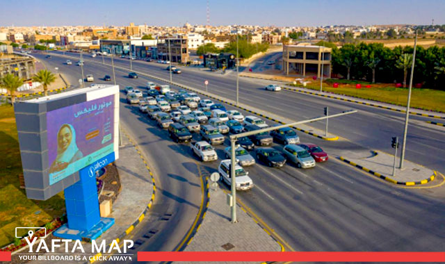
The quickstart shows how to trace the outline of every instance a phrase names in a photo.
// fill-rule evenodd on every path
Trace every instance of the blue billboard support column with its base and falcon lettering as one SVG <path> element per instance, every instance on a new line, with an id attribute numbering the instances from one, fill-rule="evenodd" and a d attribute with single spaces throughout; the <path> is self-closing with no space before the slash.
<path id="1" fill-rule="evenodd" d="M 65 188 L 67 224 L 54 231 L 54 236 L 72 240 L 95 240 L 114 224 L 114 218 L 100 217 L 96 172 L 112 163 L 114 152 L 79 171 L 80 180 Z"/>

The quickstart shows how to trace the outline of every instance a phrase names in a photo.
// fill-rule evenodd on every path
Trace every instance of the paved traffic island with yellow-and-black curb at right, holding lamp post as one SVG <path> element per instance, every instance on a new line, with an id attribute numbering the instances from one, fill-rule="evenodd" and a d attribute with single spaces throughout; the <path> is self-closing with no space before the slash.
<path id="1" fill-rule="evenodd" d="M 396 175 L 392 176 L 394 156 L 384 152 L 343 151 L 346 156 L 339 158 L 344 162 L 364 170 L 380 179 L 401 185 L 426 184 L 435 179 L 436 172 L 422 165 L 405 160 L 403 170 L 398 169 L 400 158 L 396 160 Z"/>

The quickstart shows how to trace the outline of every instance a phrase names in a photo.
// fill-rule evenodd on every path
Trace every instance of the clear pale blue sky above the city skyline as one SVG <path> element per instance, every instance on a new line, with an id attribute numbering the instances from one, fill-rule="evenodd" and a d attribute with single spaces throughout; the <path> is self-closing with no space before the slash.
<path id="1" fill-rule="evenodd" d="M 206 0 L 1 0 L 0 26 L 206 24 Z M 445 24 L 444 0 L 209 0 L 210 24 Z"/>

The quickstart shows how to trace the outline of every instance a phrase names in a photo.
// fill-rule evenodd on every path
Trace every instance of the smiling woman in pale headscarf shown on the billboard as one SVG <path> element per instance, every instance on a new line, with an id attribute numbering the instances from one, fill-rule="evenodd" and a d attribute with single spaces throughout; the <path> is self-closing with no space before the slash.
<path id="1" fill-rule="evenodd" d="M 57 156 L 49 167 L 49 173 L 59 172 L 83 157 L 76 145 L 76 131 L 70 124 L 63 124 L 57 133 Z"/>

